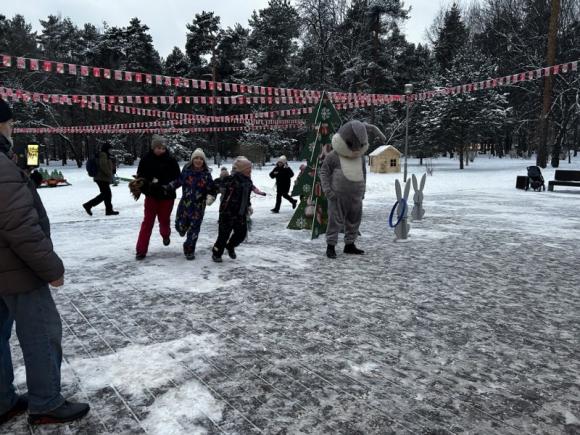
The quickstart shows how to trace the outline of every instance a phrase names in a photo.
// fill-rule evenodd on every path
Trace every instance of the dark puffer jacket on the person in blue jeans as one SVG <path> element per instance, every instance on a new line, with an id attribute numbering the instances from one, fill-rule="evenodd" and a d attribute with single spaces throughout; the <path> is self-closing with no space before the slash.
<path id="1" fill-rule="evenodd" d="M 0 296 L 30 292 L 63 275 L 36 188 L 0 152 Z"/>

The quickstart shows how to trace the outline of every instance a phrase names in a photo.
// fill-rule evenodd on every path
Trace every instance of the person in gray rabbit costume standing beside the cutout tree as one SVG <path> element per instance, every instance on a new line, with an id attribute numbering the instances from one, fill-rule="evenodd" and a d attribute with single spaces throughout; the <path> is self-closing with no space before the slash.
<path id="1" fill-rule="evenodd" d="M 349 121 L 332 137 L 332 151 L 320 168 L 322 190 L 328 199 L 326 256 L 336 258 L 338 234 L 344 229 L 344 253 L 364 254 L 355 246 L 362 219 L 362 201 L 366 187 L 364 154 L 369 149 L 369 134 L 386 137 L 372 124 Z"/>

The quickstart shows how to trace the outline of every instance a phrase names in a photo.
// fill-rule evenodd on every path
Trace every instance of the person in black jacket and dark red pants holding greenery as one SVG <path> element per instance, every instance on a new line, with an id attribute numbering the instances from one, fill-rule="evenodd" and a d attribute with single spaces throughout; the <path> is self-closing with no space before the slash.
<path id="1" fill-rule="evenodd" d="M 175 202 L 175 190 L 164 188 L 177 180 L 180 175 L 179 164 L 167 150 L 167 143 L 161 136 L 153 135 L 151 150 L 141 159 L 137 169 L 137 178 L 143 179 L 142 193 L 145 195 L 145 216 L 137 239 L 137 260 L 147 255 L 149 240 L 155 225 L 159 221 L 159 233 L 163 244 L 171 243 L 171 211 Z"/>

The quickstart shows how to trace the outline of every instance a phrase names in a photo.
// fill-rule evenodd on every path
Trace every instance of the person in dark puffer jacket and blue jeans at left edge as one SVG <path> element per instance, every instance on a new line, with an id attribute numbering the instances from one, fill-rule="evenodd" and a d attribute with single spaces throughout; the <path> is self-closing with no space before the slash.
<path id="1" fill-rule="evenodd" d="M 26 410 L 30 424 L 64 423 L 89 411 L 61 395 L 62 325 L 48 284 L 63 285 L 64 266 L 36 187 L 14 162 L 11 136 L 12 111 L 0 99 L 0 424 Z M 28 395 L 13 384 L 14 323 Z"/>

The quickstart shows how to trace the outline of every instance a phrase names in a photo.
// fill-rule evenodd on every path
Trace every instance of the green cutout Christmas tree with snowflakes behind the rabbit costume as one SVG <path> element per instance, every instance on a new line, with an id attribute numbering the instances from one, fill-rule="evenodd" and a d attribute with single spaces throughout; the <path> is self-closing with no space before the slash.
<path id="1" fill-rule="evenodd" d="M 299 196 L 300 204 L 288 223 L 291 230 L 311 230 L 313 239 L 324 234 L 328 224 L 328 204 L 318 173 L 324 157 L 332 151 L 332 135 L 340 124 L 338 112 L 323 93 L 308 120 L 307 146 L 300 153 L 300 158 L 308 163 L 294 183 L 292 196 Z"/>

